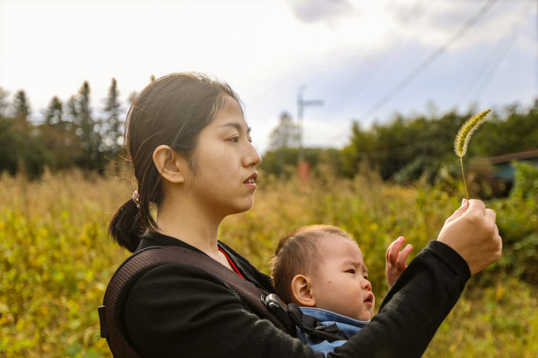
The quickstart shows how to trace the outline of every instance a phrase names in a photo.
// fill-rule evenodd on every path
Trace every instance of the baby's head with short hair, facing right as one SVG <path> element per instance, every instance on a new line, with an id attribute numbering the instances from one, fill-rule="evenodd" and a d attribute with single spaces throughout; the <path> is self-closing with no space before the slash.
<path id="1" fill-rule="evenodd" d="M 299 227 L 278 243 L 273 285 L 286 303 L 370 320 L 375 299 L 363 253 L 353 237 L 329 225 Z"/>

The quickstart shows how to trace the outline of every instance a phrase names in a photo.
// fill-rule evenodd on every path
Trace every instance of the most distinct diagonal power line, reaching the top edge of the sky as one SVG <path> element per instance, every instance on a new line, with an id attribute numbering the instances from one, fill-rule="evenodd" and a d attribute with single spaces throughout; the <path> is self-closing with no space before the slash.
<path id="1" fill-rule="evenodd" d="M 395 86 L 390 92 L 385 94 L 376 104 L 374 104 L 368 111 L 366 111 L 359 120 L 365 119 L 372 114 L 379 111 L 381 107 L 388 103 L 396 94 L 403 90 L 409 83 L 419 76 L 424 70 L 426 70 L 430 64 L 437 60 L 442 54 L 444 54 L 450 46 L 454 45 L 456 41 L 462 38 L 485 14 L 491 9 L 491 7 L 497 2 L 497 0 L 488 0 L 487 3 L 482 6 L 475 16 L 473 16 L 469 21 L 463 25 L 458 32 L 456 32 L 447 42 L 445 42 L 441 47 L 437 48 L 433 54 L 428 56 L 415 70 L 413 70 L 403 81 L 401 81 L 397 86 Z"/>

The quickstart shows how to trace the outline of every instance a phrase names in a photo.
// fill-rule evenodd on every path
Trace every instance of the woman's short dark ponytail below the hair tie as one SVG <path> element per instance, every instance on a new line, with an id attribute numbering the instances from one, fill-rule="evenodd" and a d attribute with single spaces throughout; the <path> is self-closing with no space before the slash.
<path id="1" fill-rule="evenodd" d="M 137 203 L 129 199 L 116 211 L 108 233 L 116 243 L 125 249 L 134 252 L 140 244 L 143 233 L 146 231 L 144 222 L 137 208 Z"/>

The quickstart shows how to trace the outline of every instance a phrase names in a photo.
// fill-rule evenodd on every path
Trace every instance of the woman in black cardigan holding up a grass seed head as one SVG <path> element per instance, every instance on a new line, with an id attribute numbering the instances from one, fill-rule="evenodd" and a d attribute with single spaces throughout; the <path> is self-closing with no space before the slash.
<path id="1" fill-rule="evenodd" d="M 225 216 L 251 208 L 261 162 L 230 86 L 193 73 L 157 79 L 134 99 L 125 143 L 138 195 L 112 218 L 116 242 L 130 251 L 203 252 L 274 292 L 270 277 L 217 240 Z M 329 356 L 422 355 L 470 275 L 500 251 L 493 210 L 464 200 L 437 241 L 410 262 L 378 315 Z M 161 265 L 141 276 L 126 299 L 123 325 L 144 357 L 318 356 L 260 319 L 217 277 L 188 265 Z"/>

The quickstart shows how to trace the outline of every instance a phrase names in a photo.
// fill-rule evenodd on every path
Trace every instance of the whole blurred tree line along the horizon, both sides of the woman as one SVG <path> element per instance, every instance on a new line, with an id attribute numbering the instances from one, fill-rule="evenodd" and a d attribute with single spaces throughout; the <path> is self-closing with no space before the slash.
<path id="1" fill-rule="evenodd" d="M 151 77 L 154 81 L 154 77 Z M 104 171 L 122 149 L 122 112 L 136 94 L 119 101 L 116 79 L 112 78 L 104 106 L 91 107 L 90 85 L 62 101 L 52 97 L 41 120 L 30 118 L 30 104 L 24 90 L 8 101 L 0 88 L 0 172 L 15 174 L 24 169 L 37 178 L 48 166 L 52 170 L 81 167 Z M 343 149 L 305 148 L 305 159 L 316 172 L 328 167 L 337 176 L 353 177 L 361 162 L 375 167 L 383 179 L 405 183 L 425 178 L 433 182 L 442 173 L 458 177 L 459 167 L 453 141 L 458 128 L 476 112 L 456 110 L 436 114 L 397 113 L 390 121 L 362 127 L 352 121 L 349 144 Z M 270 149 L 261 169 L 286 177 L 295 171 L 299 146 L 299 126 L 283 112 L 270 134 Z M 469 157 L 484 158 L 538 149 L 538 99 L 533 105 L 514 104 L 493 111 L 473 135 Z M 467 163 L 472 164 L 472 160 Z"/>

